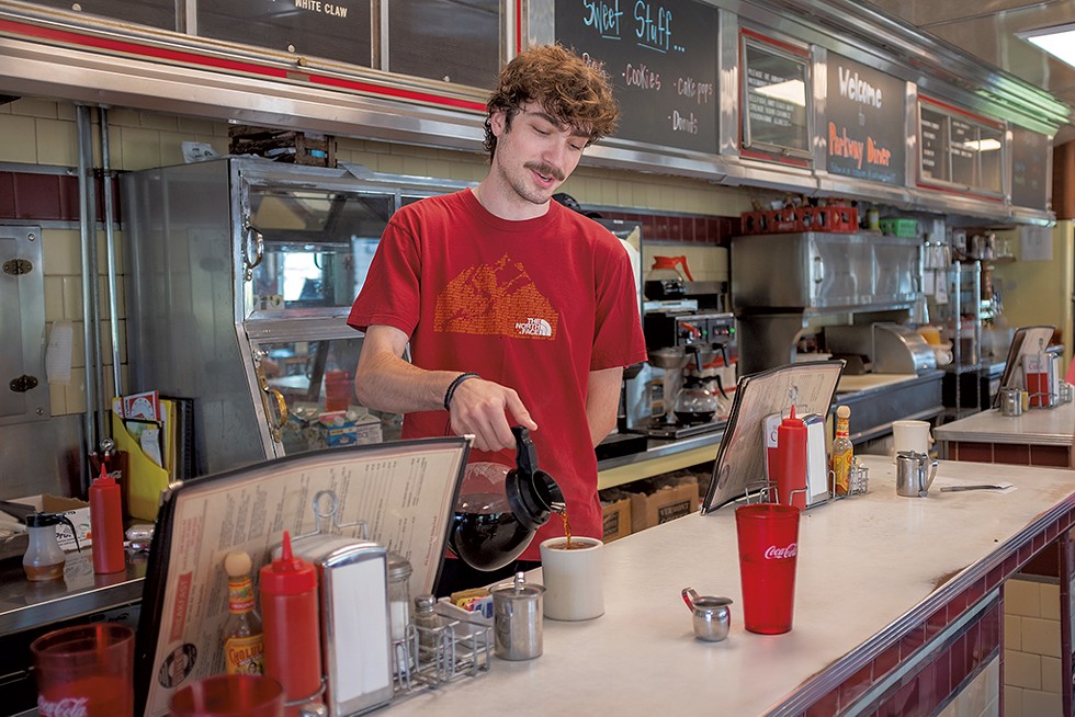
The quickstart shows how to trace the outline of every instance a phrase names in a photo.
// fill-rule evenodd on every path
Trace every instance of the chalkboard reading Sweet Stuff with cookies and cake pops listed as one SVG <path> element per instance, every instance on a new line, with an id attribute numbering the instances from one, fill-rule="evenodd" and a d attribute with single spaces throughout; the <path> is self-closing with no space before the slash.
<path id="1" fill-rule="evenodd" d="M 556 39 L 600 62 L 621 139 L 718 152 L 717 11 L 694 0 L 556 0 Z"/>

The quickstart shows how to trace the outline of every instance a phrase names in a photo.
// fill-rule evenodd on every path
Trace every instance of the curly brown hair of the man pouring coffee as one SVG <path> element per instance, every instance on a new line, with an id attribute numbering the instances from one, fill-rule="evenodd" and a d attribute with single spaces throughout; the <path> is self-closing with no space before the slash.
<path id="1" fill-rule="evenodd" d="M 486 103 L 485 149 L 497 150 L 493 115 L 503 110 L 506 127 L 528 102 L 541 107 L 568 127 L 586 134 L 591 145 L 615 132 L 620 107 L 604 70 L 562 45 L 539 45 L 517 55 L 500 71 L 497 89 Z"/>

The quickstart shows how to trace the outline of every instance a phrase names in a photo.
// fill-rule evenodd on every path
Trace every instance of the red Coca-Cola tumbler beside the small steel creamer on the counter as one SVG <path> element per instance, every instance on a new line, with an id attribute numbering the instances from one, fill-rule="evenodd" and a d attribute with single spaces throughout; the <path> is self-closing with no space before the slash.
<path id="1" fill-rule="evenodd" d="M 799 509 L 777 503 L 735 510 L 743 583 L 743 623 L 751 633 L 779 635 L 791 629 L 795 607 Z"/>

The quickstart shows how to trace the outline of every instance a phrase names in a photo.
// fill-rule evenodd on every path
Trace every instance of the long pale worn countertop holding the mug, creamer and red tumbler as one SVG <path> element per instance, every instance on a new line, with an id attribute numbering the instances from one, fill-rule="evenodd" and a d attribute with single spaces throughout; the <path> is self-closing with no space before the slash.
<path id="1" fill-rule="evenodd" d="M 1071 471 L 942 462 L 929 498 L 895 494 L 891 458 L 863 456 L 870 491 L 811 509 L 800 531 L 794 629 L 743 628 L 734 512 L 690 515 L 606 547 L 606 614 L 544 621 L 544 655 L 417 694 L 392 715 L 801 715 L 1075 505 Z M 941 493 L 943 485 L 1012 483 Z M 958 534 L 959 539 L 952 539 Z M 1040 549 L 1044 543 L 1034 547 Z M 989 571 L 993 571 L 992 573 Z M 540 570 L 529 580 L 541 581 Z M 734 601 L 728 639 L 701 642 L 683 588 Z"/>

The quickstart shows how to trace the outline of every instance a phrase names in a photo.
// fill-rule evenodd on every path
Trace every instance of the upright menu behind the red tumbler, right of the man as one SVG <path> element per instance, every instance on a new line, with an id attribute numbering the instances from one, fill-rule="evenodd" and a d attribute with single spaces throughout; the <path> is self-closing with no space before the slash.
<path id="1" fill-rule="evenodd" d="M 702 514 L 746 498 L 766 480 L 765 420 L 792 403 L 800 416 L 827 416 L 846 362 L 811 361 L 769 368 L 739 379 L 724 440 L 716 452 Z"/>

